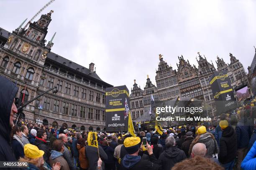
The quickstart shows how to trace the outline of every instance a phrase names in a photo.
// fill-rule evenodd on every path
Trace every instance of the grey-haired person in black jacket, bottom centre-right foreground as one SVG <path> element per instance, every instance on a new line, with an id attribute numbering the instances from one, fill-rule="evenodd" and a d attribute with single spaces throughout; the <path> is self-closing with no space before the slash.
<path id="1" fill-rule="evenodd" d="M 175 144 L 174 137 L 167 137 L 165 141 L 166 150 L 158 158 L 159 170 L 170 170 L 174 164 L 187 158 L 185 152 L 175 147 Z"/>

